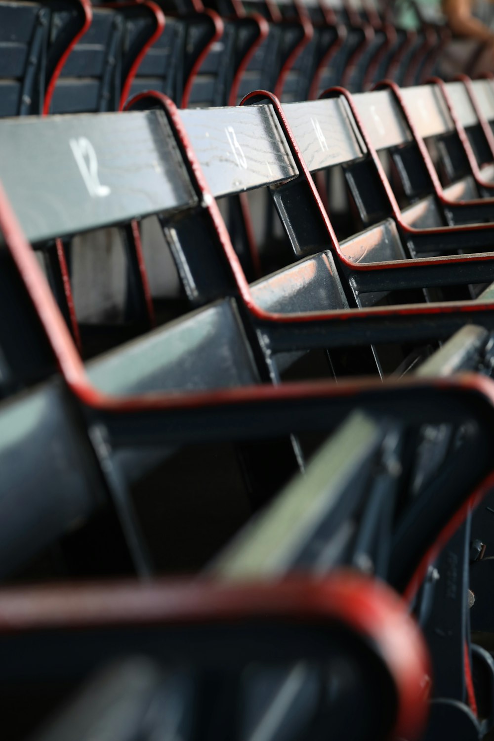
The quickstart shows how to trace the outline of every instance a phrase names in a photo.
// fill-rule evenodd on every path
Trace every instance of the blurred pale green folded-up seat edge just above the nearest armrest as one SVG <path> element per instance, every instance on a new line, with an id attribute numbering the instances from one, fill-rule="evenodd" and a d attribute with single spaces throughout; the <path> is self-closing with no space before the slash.
<path id="1" fill-rule="evenodd" d="M 279 578 L 293 569 L 329 573 L 353 536 L 356 522 L 347 517 L 362 496 L 364 465 L 375 456 L 384 434 L 361 412 L 351 414 L 307 471 L 224 549 L 212 565 L 213 574 L 238 581 Z"/>

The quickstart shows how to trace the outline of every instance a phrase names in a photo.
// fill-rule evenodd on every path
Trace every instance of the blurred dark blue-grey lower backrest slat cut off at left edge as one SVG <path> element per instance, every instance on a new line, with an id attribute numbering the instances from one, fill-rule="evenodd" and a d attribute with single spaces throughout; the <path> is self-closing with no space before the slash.
<path id="1" fill-rule="evenodd" d="M 0 405 L 0 577 L 105 499 L 84 431 L 61 385 L 50 382 Z"/>

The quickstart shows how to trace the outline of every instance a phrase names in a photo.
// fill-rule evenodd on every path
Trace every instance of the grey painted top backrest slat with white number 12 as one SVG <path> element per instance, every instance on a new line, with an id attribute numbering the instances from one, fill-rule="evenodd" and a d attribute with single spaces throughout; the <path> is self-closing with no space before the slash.
<path id="1" fill-rule="evenodd" d="M 6 119 L 0 162 L 1 182 L 31 242 L 195 202 L 158 111 Z"/>

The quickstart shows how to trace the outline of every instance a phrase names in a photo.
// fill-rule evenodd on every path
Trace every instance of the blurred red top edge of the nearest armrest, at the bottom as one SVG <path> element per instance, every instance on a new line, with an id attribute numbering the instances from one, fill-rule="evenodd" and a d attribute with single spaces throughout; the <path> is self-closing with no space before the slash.
<path id="1" fill-rule="evenodd" d="M 384 660 L 394 680 L 398 712 L 391 738 L 420 737 L 430 688 L 427 645 L 404 602 L 387 585 L 353 571 L 341 569 L 324 579 L 292 576 L 274 584 L 202 578 L 0 591 L 3 634 L 250 619 L 335 622 L 354 631 Z"/>

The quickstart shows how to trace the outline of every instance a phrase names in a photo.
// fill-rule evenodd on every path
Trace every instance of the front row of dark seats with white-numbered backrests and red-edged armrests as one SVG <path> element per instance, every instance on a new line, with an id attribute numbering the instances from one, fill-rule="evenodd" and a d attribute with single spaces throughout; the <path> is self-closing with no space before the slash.
<path id="1" fill-rule="evenodd" d="M 493 125 L 469 79 L 0 122 L 7 739 L 490 731 Z M 263 188 L 256 253 L 221 213 Z M 102 227 L 121 313 L 83 325 Z"/>

